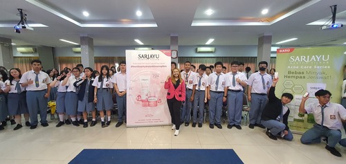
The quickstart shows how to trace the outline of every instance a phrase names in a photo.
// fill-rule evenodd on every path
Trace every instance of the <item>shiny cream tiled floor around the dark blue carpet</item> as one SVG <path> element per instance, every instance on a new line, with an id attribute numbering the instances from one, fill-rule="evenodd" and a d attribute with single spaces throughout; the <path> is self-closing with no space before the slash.
<path id="1" fill-rule="evenodd" d="M 173 136 L 170 126 L 116 128 L 74 127 L 49 122 L 49 127 L 38 126 L 17 131 L 8 125 L 0 131 L 0 163 L 69 163 L 82 149 L 234 149 L 244 163 L 346 163 L 346 148 L 338 145 L 343 154 L 338 158 L 325 149 L 325 144 L 302 145 L 300 135 L 293 141 L 271 140 L 264 129 L 242 130 L 181 127 Z M 345 134 L 343 134 L 345 138 Z"/>

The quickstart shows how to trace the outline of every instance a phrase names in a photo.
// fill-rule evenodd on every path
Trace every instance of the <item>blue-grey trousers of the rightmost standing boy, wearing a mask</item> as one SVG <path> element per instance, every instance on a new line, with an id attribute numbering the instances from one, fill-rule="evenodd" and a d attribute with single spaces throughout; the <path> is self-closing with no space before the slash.
<path id="1" fill-rule="evenodd" d="M 260 124 L 261 116 L 266 102 L 268 101 L 267 95 L 259 95 L 251 93 L 251 110 L 248 112 L 250 124 Z"/>

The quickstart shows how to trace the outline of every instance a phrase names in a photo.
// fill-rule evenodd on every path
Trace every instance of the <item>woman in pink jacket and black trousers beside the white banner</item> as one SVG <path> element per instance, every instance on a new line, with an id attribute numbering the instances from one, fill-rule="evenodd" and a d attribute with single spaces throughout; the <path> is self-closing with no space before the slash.
<path id="1" fill-rule="evenodd" d="M 166 98 L 172 118 L 172 130 L 175 129 L 174 136 L 178 136 L 180 127 L 180 108 L 181 104 L 185 102 L 185 82 L 181 78 L 179 69 L 173 69 L 172 75 L 167 77 L 165 89 L 168 89 Z"/>

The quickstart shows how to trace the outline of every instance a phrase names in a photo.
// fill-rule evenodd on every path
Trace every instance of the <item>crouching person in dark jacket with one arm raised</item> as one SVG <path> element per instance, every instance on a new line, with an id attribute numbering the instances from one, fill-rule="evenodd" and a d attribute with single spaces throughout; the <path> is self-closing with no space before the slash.
<path id="1" fill-rule="evenodd" d="M 293 95 L 291 93 L 283 93 L 280 98 L 275 96 L 275 85 L 279 81 L 278 78 L 273 79 L 273 84 L 268 93 L 268 103 L 264 107 L 262 113 L 262 125 L 267 128 L 266 135 L 277 140 L 277 135 L 285 140 L 293 140 L 293 135 L 289 130 L 288 118 L 289 108 L 286 104 L 291 102 Z"/>

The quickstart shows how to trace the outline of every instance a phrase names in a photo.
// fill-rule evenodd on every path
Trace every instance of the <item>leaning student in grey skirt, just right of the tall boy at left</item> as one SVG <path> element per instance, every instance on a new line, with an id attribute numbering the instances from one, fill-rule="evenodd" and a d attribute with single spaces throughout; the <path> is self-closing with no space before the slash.
<path id="1" fill-rule="evenodd" d="M 57 76 L 51 83 L 51 87 L 57 88 L 57 99 L 56 99 L 56 111 L 59 115 L 59 123 L 55 127 L 61 127 L 65 124 L 64 115 L 66 112 L 65 108 L 65 96 L 66 96 L 66 86 L 62 86 L 62 81 L 66 78 L 67 70 L 62 71 L 60 76 Z M 67 122 L 67 120 L 66 120 Z M 66 123 L 67 124 L 67 123 Z"/>

